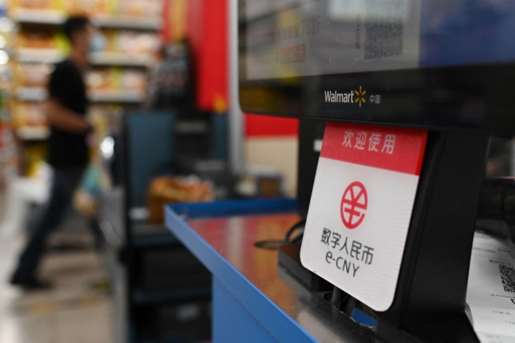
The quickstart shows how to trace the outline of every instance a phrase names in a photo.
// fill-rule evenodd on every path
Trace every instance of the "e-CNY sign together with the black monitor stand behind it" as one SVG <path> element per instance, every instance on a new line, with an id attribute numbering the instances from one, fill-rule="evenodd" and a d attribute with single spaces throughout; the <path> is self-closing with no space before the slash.
<path id="1" fill-rule="evenodd" d="M 465 293 L 487 144 L 487 135 L 327 124 L 301 261 L 386 340 L 478 342 Z"/>

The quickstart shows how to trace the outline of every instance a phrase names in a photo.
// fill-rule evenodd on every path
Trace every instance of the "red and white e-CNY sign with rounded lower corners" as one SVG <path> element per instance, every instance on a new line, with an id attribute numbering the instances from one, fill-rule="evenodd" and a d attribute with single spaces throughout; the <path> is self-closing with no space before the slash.
<path id="1" fill-rule="evenodd" d="M 427 131 L 328 123 L 301 262 L 375 311 L 394 301 Z"/>

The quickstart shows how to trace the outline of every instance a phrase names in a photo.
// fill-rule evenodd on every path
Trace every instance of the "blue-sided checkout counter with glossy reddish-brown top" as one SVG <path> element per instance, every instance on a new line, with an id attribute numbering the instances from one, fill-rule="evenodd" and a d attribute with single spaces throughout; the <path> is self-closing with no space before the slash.
<path id="1" fill-rule="evenodd" d="M 240 215 L 199 218 L 191 209 L 176 208 L 179 214 L 174 208 L 165 208 L 166 226 L 213 276 L 214 343 L 381 342 L 370 327 L 356 325 L 324 300 L 324 293 L 306 288 L 279 267 L 277 251 L 254 245 L 283 239 L 302 219 L 296 213 L 241 210 Z M 185 213 L 195 219 L 185 219 Z"/>

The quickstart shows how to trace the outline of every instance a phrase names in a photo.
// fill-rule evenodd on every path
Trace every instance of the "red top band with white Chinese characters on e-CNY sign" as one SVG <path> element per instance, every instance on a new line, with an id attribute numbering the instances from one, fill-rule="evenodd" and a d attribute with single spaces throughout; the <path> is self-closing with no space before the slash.
<path id="1" fill-rule="evenodd" d="M 321 157 L 420 175 L 427 130 L 328 123 Z"/>

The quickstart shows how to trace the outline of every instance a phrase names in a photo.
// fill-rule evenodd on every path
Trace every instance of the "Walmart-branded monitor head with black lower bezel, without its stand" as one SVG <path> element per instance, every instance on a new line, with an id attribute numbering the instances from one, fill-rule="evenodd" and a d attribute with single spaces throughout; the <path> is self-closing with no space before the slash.
<path id="1" fill-rule="evenodd" d="M 513 0 L 240 0 L 239 54 L 247 112 L 515 134 Z"/>

